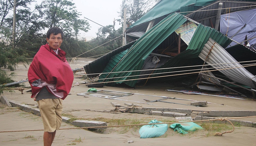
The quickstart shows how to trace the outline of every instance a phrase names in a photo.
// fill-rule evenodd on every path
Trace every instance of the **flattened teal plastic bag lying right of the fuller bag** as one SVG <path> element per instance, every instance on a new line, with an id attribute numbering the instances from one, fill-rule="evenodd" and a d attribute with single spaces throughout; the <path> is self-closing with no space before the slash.
<path id="1" fill-rule="evenodd" d="M 201 126 L 197 125 L 194 122 L 174 123 L 170 125 L 170 128 L 182 134 L 188 133 L 186 131 L 196 131 L 198 129 L 203 129 Z"/>

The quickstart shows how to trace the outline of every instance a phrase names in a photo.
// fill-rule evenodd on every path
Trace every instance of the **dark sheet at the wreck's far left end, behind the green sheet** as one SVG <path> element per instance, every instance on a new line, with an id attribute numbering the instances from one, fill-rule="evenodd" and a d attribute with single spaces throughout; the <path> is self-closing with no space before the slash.
<path id="1" fill-rule="evenodd" d="M 117 49 L 103 55 L 102 57 L 97 58 L 96 60 L 92 61 L 91 63 L 83 66 L 85 68 L 85 71 L 87 74 L 93 74 L 93 75 L 88 75 L 88 76 L 92 77 L 92 78 L 98 76 L 100 73 L 102 73 L 104 68 L 107 66 L 111 57 L 115 56 L 116 54 L 118 54 L 124 50 L 127 50 L 135 42 L 136 41 L 133 41 L 133 42 L 128 43 L 127 45 L 121 46 L 120 48 L 117 48 Z"/>

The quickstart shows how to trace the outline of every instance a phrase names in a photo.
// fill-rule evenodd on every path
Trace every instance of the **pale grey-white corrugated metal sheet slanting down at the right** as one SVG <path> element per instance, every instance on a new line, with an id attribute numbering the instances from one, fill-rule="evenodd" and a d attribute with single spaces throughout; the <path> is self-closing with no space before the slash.
<path id="1" fill-rule="evenodd" d="M 208 64 L 218 64 L 211 65 L 216 69 L 232 68 L 229 66 L 240 67 L 220 70 L 220 72 L 235 82 L 241 83 L 242 85 L 246 85 L 251 88 L 255 88 L 254 83 L 256 83 L 256 78 L 254 78 L 254 75 L 242 67 L 241 64 L 236 63 L 237 61 L 213 39 L 209 38 L 209 41 L 204 45 L 204 48 L 198 57 L 200 57 L 202 60 L 206 60 L 206 63 Z"/>

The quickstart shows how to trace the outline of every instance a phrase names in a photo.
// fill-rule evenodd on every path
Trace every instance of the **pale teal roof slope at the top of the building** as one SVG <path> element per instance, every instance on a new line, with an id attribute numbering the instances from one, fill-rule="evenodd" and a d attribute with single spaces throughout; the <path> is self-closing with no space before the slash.
<path id="1" fill-rule="evenodd" d="M 176 12 L 181 7 L 189 6 L 206 6 L 216 0 L 161 0 L 152 9 L 150 9 L 145 15 L 143 15 L 138 21 L 134 22 L 130 27 L 148 22 L 158 17 Z"/>

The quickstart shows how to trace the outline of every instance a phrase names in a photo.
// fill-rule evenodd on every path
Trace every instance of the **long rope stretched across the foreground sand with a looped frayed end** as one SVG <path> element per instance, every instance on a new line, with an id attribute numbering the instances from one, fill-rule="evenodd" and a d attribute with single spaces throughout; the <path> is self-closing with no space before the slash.
<path id="1" fill-rule="evenodd" d="M 72 128 L 60 128 L 59 130 L 69 130 L 69 129 L 98 129 L 98 128 L 108 128 L 108 127 L 124 127 L 124 126 L 143 126 L 143 125 L 155 125 L 155 124 L 173 124 L 173 123 L 186 123 L 186 122 L 205 122 L 205 121 L 228 121 L 232 126 L 233 130 L 225 131 L 222 133 L 215 133 L 215 136 L 222 136 L 225 133 L 231 133 L 235 130 L 235 126 L 229 119 L 240 119 L 240 118 L 253 118 L 256 116 L 247 116 L 247 117 L 237 117 L 237 118 L 218 118 L 218 119 L 208 119 L 208 120 L 197 120 L 197 121 L 179 121 L 179 122 L 165 122 L 165 123 L 147 123 L 147 124 L 131 124 L 131 125 L 113 125 L 113 126 L 93 126 L 93 127 L 72 127 Z M 0 133 L 4 132 L 25 132 L 25 131 L 43 131 L 43 129 L 35 129 L 35 130 L 16 130 L 16 131 L 0 131 Z"/>

